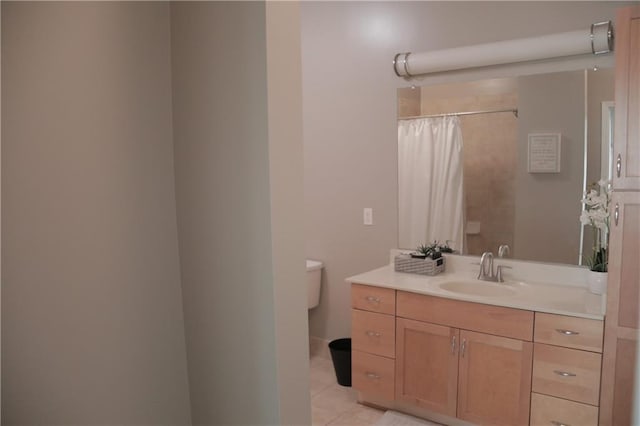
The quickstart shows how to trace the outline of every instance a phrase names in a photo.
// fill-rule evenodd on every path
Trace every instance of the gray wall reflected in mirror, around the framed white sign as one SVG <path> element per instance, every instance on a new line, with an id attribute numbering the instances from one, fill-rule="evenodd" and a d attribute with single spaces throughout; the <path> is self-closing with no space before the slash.
<path id="1" fill-rule="evenodd" d="M 518 79 L 513 256 L 577 264 L 584 170 L 584 71 Z M 530 133 L 560 133 L 559 173 L 529 173 Z"/>

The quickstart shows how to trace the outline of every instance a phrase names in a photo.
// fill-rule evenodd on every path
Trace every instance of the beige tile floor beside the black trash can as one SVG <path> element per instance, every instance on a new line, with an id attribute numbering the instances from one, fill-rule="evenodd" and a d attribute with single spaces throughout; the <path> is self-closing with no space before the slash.
<path id="1" fill-rule="evenodd" d="M 310 360 L 311 418 L 313 425 L 372 425 L 384 411 L 358 404 L 357 392 L 340 386 L 331 360 L 313 356 Z"/>

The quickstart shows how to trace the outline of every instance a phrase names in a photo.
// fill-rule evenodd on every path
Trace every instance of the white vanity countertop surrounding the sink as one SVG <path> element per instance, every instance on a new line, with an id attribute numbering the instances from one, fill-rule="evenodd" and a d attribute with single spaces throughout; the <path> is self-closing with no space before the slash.
<path id="1" fill-rule="evenodd" d="M 436 276 L 396 272 L 393 264 L 389 264 L 382 268 L 349 277 L 346 281 L 487 305 L 506 306 L 581 318 L 604 319 L 605 296 L 592 294 L 585 286 L 574 283 L 562 285 L 506 277 L 505 283 L 501 285 L 507 285 L 515 291 L 513 292 L 514 294 L 501 296 L 476 296 L 441 289 L 439 285 L 447 281 L 476 280 L 477 271 L 460 267 L 460 262 L 457 260 L 456 262 L 458 264 L 450 268 L 449 264 L 453 262 L 447 260 L 446 271 Z M 511 263 L 517 264 L 517 262 L 513 261 Z M 529 265 L 528 267 L 531 266 Z M 476 268 L 479 267 L 476 266 Z M 537 278 L 539 279 L 539 277 Z M 481 284 L 482 281 L 478 281 L 478 283 Z"/>

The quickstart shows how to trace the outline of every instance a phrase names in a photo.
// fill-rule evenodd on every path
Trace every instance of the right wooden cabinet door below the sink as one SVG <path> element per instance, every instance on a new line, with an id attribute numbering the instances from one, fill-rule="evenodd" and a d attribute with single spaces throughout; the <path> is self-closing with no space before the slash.
<path id="1" fill-rule="evenodd" d="M 528 424 L 532 343 L 465 330 L 460 339 L 458 418 Z"/>

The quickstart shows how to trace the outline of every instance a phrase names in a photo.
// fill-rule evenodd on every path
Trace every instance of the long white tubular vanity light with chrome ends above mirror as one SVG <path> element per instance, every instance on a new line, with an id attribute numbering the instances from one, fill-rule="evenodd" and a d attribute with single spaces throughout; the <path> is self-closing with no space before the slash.
<path id="1" fill-rule="evenodd" d="M 498 41 L 422 53 L 398 53 L 393 70 L 398 77 L 510 64 L 573 55 L 600 55 L 613 51 L 611 21 L 598 22 L 588 30 Z"/>

